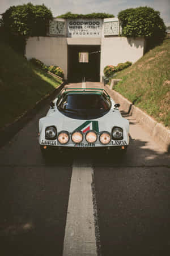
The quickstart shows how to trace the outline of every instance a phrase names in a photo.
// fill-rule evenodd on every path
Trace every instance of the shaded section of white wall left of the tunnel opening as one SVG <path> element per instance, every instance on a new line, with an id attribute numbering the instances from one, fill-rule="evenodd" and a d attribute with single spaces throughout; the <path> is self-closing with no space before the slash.
<path id="1" fill-rule="evenodd" d="M 66 37 L 29 37 L 25 49 L 28 60 L 32 57 L 46 65 L 56 65 L 63 69 L 67 79 L 67 39 Z"/>

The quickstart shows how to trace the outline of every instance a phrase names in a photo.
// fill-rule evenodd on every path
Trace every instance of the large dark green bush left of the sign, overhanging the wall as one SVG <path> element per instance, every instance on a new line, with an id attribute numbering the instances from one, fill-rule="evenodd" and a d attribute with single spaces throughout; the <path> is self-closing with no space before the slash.
<path id="1" fill-rule="evenodd" d="M 18 53 L 24 55 L 29 36 L 45 36 L 52 12 L 45 5 L 11 6 L 2 14 L 0 26 L 5 31 L 5 40 Z"/>

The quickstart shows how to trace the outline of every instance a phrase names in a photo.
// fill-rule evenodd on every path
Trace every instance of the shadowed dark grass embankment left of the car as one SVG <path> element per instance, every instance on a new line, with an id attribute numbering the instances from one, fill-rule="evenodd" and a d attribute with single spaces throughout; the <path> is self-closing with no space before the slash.
<path id="1" fill-rule="evenodd" d="M 61 81 L 0 42 L 0 129 L 18 119 Z"/>

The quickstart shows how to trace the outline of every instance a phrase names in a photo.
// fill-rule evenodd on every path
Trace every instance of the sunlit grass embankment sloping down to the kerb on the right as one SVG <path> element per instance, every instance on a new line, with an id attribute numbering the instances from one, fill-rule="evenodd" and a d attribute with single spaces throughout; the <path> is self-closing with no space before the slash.
<path id="1" fill-rule="evenodd" d="M 114 78 L 123 79 L 114 90 L 170 128 L 170 39 Z"/>

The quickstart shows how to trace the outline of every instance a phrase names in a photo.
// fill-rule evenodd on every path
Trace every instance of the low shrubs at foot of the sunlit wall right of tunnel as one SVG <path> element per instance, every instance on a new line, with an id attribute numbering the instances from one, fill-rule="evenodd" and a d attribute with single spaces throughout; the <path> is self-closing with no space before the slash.
<path id="1" fill-rule="evenodd" d="M 131 64 L 130 61 L 126 61 L 125 63 L 119 63 L 117 66 L 107 65 L 104 68 L 104 75 L 105 77 L 112 77 L 115 72 L 126 69 L 131 66 Z"/>

